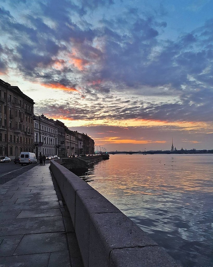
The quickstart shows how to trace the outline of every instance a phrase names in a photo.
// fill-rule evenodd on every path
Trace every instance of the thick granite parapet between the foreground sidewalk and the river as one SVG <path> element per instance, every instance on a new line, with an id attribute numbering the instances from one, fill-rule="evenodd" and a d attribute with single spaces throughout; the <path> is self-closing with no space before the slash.
<path id="1" fill-rule="evenodd" d="M 58 162 L 57 162 L 58 161 Z M 84 180 L 51 160 L 85 267 L 180 267 L 157 243 Z"/>

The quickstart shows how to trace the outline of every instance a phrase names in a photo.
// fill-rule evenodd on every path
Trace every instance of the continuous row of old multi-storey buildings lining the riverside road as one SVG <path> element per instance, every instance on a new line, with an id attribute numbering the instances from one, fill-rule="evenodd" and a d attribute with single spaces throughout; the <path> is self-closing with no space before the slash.
<path id="1" fill-rule="evenodd" d="M 34 101 L 17 86 L 0 79 L 0 156 L 11 159 L 21 152 L 73 156 L 92 155 L 94 140 L 69 130 L 59 120 L 34 114 Z"/>

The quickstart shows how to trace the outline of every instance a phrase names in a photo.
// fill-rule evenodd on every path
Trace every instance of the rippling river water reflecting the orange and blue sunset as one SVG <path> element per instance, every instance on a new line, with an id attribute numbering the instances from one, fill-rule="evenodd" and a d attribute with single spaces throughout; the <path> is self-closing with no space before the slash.
<path id="1" fill-rule="evenodd" d="M 183 266 L 213 266 L 213 154 L 116 154 L 79 176 Z"/>

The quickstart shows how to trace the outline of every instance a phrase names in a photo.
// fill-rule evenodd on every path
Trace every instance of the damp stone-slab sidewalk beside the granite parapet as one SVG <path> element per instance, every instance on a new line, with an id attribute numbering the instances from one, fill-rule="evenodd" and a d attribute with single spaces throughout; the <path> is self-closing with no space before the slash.
<path id="1" fill-rule="evenodd" d="M 1 267 L 83 267 L 49 166 L 36 165 L 0 186 Z"/>

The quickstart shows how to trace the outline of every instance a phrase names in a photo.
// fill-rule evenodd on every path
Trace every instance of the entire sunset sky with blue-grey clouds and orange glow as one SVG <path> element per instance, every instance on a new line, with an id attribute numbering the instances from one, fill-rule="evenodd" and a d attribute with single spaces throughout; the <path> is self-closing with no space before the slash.
<path id="1" fill-rule="evenodd" d="M 213 1 L 0 0 L 0 78 L 107 151 L 213 149 Z"/>

